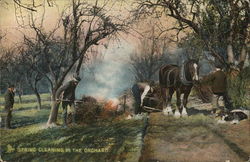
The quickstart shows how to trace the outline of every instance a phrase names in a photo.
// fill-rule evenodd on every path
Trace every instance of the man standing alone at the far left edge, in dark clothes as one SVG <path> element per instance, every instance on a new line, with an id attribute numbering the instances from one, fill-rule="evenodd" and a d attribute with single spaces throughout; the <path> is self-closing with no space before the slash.
<path id="1" fill-rule="evenodd" d="M 5 128 L 10 129 L 10 121 L 12 118 L 12 110 L 13 110 L 13 105 L 14 105 L 14 97 L 15 97 L 15 86 L 14 85 L 9 85 L 7 91 L 4 94 L 4 99 L 5 99 L 5 112 L 6 112 L 6 117 L 5 117 Z"/>

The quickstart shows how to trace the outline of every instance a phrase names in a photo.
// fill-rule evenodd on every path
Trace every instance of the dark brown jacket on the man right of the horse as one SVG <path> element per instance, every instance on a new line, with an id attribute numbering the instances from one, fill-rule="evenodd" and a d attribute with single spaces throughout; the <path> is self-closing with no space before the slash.
<path id="1" fill-rule="evenodd" d="M 227 77 L 226 74 L 218 70 L 209 74 L 207 77 L 204 78 L 202 81 L 203 83 L 208 83 L 213 93 L 225 93 L 227 89 Z"/>

